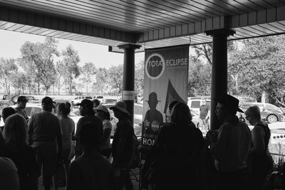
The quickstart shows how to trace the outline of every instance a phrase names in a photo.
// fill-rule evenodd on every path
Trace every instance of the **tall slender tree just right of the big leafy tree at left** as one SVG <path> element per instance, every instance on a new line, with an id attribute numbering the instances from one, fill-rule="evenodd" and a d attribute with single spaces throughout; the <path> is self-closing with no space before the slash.
<path id="1" fill-rule="evenodd" d="M 78 63 L 80 58 L 78 52 L 70 45 L 62 52 L 63 55 L 63 68 L 66 70 L 64 73 L 65 83 L 68 85 L 69 95 L 72 95 L 74 88 L 73 80 L 80 75 Z"/>

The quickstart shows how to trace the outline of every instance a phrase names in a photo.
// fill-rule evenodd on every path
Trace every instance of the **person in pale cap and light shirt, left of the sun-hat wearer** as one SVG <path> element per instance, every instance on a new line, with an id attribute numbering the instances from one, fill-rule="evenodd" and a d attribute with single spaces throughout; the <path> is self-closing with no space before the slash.
<path id="1" fill-rule="evenodd" d="M 110 143 L 112 124 L 110 122 L 110 112 L 105 105 L 99 105 L 94 108 L 95 116 L 97 116 L 103 122 L 103 142 L 102 148 L 100 149 L 100 153 L 109 158 L 111 154 L 112 144 Z"/>

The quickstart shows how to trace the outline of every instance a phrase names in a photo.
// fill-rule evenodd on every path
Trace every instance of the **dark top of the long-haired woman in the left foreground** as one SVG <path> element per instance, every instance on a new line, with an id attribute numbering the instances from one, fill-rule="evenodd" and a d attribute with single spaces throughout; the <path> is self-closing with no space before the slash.
<path id="1" fill-rule="evenodd" d="M 28 144 L 22 144 L 19 147 L 6 147 L 4 157 L 11 159 L 18 169 L 21 189 L 36 189 L 31 183 L 31 177 L 36 176 L 36 156 L 33 148 Z"/>

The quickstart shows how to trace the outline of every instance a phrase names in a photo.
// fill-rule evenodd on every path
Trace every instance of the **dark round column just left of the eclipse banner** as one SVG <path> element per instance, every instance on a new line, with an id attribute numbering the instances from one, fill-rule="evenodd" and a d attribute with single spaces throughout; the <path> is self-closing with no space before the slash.
<path id="1" fill-rule="evenodd" d="M 124 50 L 123 93 L 135 93 L 135 49 L 140 47 L 139 45 L 130 43 L 118 46 L 118 48 Z M 131 122 L 133 123 L 134 100 L 124 100 L 123 95 L 122 100 L 127 105 L 127 110 L 130 112 Z"/>

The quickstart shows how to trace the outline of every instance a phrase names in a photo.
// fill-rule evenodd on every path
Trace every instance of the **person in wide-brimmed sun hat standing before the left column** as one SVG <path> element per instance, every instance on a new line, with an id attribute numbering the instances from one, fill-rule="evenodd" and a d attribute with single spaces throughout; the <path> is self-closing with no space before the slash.
<path id="1" fill-rule="evenodd" d="M 110 107 L 119 122 L 115 128 L 115 134 L 112 143 L 113 171 L 115 174 L 116 188 L 133 190 L 133 184 L 130 180 L 130 160 L 133 152 L 133 125 L 130 122 L 130 113 L 126 110 L 124 102 L 116 102 Z"/>

